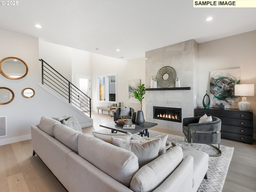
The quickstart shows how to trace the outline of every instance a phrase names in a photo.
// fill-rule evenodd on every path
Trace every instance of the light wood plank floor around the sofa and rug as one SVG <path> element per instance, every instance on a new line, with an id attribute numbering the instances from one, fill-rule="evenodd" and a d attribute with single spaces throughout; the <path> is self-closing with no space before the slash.
<path id="1" fill-rule="evenodd" d="M 92 112 L 94 126 L 84 133 L 101 130 L 110 122 L 108 114 Z M 154 127 L 151 130 L 183 136 L 182 132 Z M 234 147 L 234 154 L 222 192 L 256 191 L 256 141 L 253 145 L 222 139 L 220 143 Z M 0 192 L 66 192 L 38 156 L 32 156 L 31 140 L 0 146 Z"/>

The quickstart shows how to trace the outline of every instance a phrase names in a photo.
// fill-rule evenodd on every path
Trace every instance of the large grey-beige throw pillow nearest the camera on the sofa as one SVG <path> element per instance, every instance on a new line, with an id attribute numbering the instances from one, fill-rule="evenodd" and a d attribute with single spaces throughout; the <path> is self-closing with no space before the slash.
<path id="1" fill-rule="evenodd" d="M 113 145 L 133 152 L 138 157 L 140 168 L 158 157 L 161 144 L 161 138 L 138 141 L 112 137 L 111 140 Z"/>

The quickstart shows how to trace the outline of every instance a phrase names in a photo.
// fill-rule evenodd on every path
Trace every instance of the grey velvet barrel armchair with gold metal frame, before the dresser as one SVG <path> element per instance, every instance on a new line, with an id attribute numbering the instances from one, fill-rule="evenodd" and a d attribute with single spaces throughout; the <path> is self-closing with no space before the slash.
<path id="1" fill-rule="evenodd" d="M 211 122 L 199 123 L 200 117 L 184 118 L 182 122 L 182 131 L 185 140 L 188 140 L 191 146 L 194 143 L 210 144 L 218 150 L 218 154 L 209 156 L 221 156 L 220 151 L 220 118 L 212 116 Z M 218 148 L 212 144 L 218 144 Z"/>

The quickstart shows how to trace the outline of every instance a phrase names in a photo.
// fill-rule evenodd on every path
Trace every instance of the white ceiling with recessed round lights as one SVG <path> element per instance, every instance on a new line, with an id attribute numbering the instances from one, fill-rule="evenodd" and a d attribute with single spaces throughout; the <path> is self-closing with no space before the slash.
<path id="1" fill-rule="evenodd" d="M 22 0 L 0 5 L 0 18 L 1 29 L 123 60 L 256 30 L 256 8 L 193 8 L 192 0 Z"/>

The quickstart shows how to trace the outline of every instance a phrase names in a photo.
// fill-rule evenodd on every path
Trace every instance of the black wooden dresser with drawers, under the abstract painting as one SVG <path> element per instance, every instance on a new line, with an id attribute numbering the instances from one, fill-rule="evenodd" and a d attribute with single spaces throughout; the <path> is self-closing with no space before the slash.
<path id="1" fill-rule="evenodd" d="M 253 142 L 253 113 L 238 109 L 199 108 L 198 116 L 215 116 L 221 119 L 221 138 L 241 141 L 247 144 Z"/>

